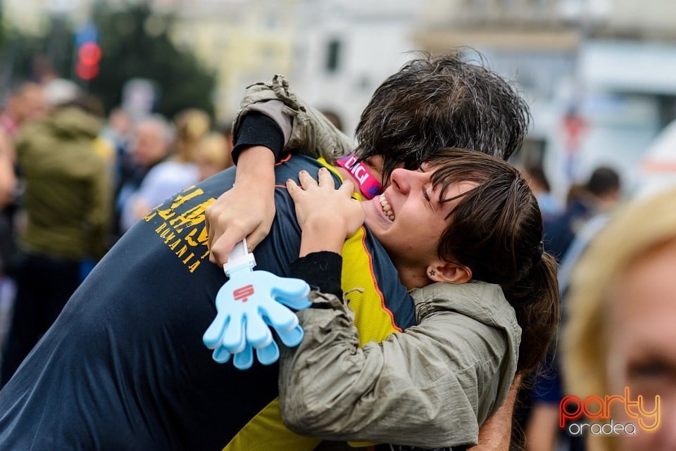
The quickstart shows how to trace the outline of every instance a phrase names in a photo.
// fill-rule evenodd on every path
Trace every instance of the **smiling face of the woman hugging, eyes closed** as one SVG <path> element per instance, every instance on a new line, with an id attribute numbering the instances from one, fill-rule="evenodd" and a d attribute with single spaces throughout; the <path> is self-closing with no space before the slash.
<path id="1" fill-rule="evenodd" d="M 451 184 L 442 196 L 442 186 L 432 186 L 432 171 L 396 169 L 390 184 L 380 196 L 363 203 L 365 224 L 387 250 L 406 279 L 427 280 L 427 267 L 438 262 L 437 246 L 449 226 L 449 214 L 460 198 L 477 186 L 475 182 Z M 420 284 L 415 284 L 420 286 Z"/>

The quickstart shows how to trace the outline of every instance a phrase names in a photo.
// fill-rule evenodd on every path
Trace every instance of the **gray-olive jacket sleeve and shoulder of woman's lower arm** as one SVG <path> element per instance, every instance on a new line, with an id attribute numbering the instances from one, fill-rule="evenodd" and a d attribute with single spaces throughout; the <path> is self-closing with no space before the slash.
<path id="1" fill-rule="evenodd" d="M 512 317 L 503 327 L 484 322 L 484 312 L 475 318 L 439 298 L 460 289 L 458 305 L 482 310 L 482 298 L 496 296 L 494 286 L 444 285 L 448 293 L 446 287 L 413 293 L 418 326 L 363 348 L 351 310 L 334 296 L 313 293 L 328 308 L 298 312 L 305 337 L 280 359 L 284 424 L 327 440 L 477 443 L 480 424 L 502 404 L 513 379 L 520 329 L 509 305 L 504 310 Z"/>

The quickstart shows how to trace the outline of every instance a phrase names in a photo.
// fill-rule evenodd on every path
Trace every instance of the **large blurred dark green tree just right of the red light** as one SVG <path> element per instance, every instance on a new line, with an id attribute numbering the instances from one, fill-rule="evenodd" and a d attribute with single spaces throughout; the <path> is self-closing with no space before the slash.
<path id="1" fill-rule="evenodd" d="M 140 77 L 157 84 L 159 113 L 173 117 L 192 107 L 213 115 L 215 73 L 173 44 L 169 38 L 171 16 L 156 15 L 144 4 L 113 10 L 101 2 L 94 23 L 99 28 L 103 57 L 89 91 L 101 99 L 106 110 L 120 104 L 127 80 Z"/>

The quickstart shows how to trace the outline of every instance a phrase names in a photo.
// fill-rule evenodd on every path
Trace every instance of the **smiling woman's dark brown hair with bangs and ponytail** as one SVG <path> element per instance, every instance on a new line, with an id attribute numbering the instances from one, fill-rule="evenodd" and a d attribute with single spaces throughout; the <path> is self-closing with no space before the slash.
<path id="1" fill-rule="evenodd" d="M 558 326 L 556 262 L 542 248 L 542 215 L 514 167 L 490 155 L 444 148 L 430 156 L 432 184 L 446 189 L 476 182 L 449 215 L 437 253 L 472 270 L 472 279 L 499 284 L 522 328 L 518 371 L 537 367 Z M 445 201 L 449 201 L 446 199 Z"/>

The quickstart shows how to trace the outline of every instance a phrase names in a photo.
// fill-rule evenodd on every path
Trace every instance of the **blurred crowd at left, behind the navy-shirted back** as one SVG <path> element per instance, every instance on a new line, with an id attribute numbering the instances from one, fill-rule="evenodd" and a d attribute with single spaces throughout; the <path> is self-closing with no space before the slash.
<path id="1" fill-rule="evenodd" d="M 202 110 L 106 117 L 63 79 L 21 82 L 2 105 L 0 386 L 127 229 L 232 165 L 230 124 Z"/>

